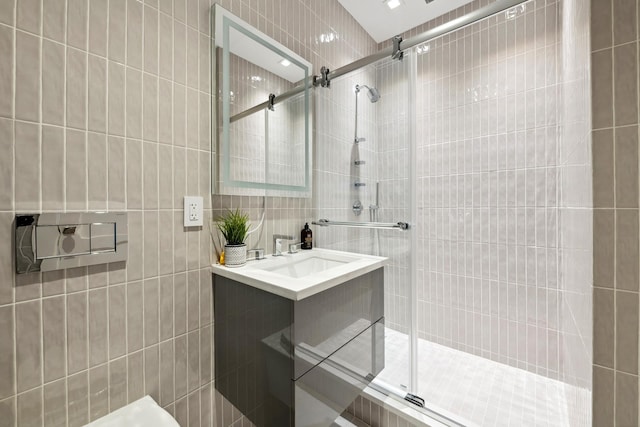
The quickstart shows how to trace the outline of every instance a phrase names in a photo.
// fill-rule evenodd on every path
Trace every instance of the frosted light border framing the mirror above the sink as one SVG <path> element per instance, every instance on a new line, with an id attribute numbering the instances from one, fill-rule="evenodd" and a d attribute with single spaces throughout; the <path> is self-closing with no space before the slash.
<path id="1" fill-rule="evenodd" d="M 305 77 L 303 80 L 296 84 L 297 86 L 306 85 L 304 93 L 304 114 L 305 114 L 305 173 L 303 185 L 287 185 L 287 184 L 274 184 L 268 182 L 255 182 L 255 181 L 243 181 L 231 179 L 230 165 L 231 165 L 231 137 L 230 137 L 230 124 L 231 124 L 231 112 L 230 112 L 230 49 L 229 49 L 229 31 L 233 28 L 241 34 L 249 37 L 253 41 L 261 44 L 267 49 L 277 53 L 283 58 L 288 59 L 292 64 L 298 66 L 304 70 Z M 220 37 L 222 40 L 219 40 Z M 222 87 L 219 89 L 218 82 L 218 59 L 217 48 L 222 48 Z M 263 189 L 274 190 L 270 196 L 282 196 L 286 194 L 289 197 L 311 197 L 311 176 L 312 176 L 312 133 L 311 133 L 311 88 L 308 82 L 310 81 L 312 70 L 312 64 L 290 49 L 278 43 L 271 37 L 260 32 L 247 22 L 233 15 L 227 9 L 223 8 L 219 4 L 215 4 L 211 8 L 211 179 L 212 179 L 212 193 L 213 194 L 231 194 L 233 188 L 241 189 Z M 267 70 L 269 71 L 269 70 Z M 276 103 L 277 103 L 276 94 Z M 219 100 L 222 100 L 222 116 L 219 117 Z M 267 100 L 265 100 L 267 101 Z M 221 120 L 219 120 L 219 118 Z M 220 132 L 219 126 L 222 127 Z M 222 136 L 220 137 L 220 134 Z M 218 172 L 216 172 L 216 166 Z M 265 165 L 266 167 L 266 165 Z M 221 174 L 220 174 L 221 172 Z M 270 191 L 272 193 L 272 191 Z M 290 194 L 294 193 L 294 194 Z M 243 193 L 245 194 L 245 193 Z"/>

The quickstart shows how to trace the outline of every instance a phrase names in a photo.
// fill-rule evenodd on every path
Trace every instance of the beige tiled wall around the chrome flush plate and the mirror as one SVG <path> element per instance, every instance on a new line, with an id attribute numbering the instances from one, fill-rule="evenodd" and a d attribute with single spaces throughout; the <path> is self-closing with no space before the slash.
<path id="1" fill-rule="evenodd" d="M 223 2 L 316 68 L 375 49 L 319 3 Z M 261 212 L 261 198 L 208 196 L 209 7 L 0 2 L 3 425 L 82 425 L 147 393 L 183 426 L 246 423 L 214 398 L 209 230 L 182 227 L 184 195 L 205 198 L 205 222 L 212 207 Z M 128 212 L 126 265 L 14 278 L 16 212 L 85 210 Z M 263 241 L 310 214 L 310 200 L 268 198 Z"/>

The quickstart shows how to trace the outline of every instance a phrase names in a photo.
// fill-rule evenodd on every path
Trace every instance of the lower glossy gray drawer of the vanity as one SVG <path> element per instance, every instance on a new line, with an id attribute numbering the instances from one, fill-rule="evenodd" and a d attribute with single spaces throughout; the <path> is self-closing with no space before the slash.
<path id="1" fill-rule="evenodd" d="M 295 381 L 296 427 L 331 425 L 383 368 L 381 319 Z"/>

